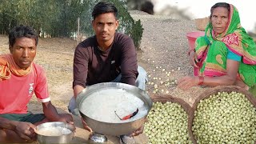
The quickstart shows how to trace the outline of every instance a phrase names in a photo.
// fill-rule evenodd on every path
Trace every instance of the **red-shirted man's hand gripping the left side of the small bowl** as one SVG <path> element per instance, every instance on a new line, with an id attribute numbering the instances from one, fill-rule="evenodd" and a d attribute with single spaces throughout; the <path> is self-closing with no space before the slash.
<path id="1" fill-rule="evenodd" d="M 34 132 L 35 129 L 36 126 L 30 122 L 18 122 L 14 131 L 16 134 L 18 134 L 19 137 L 28 141 L 34 141 L 36 140 L 36 134 Z"/>

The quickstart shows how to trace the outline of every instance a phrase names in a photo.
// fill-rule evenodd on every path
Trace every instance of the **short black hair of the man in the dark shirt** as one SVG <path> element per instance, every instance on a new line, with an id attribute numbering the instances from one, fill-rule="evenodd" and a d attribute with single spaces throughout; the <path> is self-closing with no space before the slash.
<path id="1" fill-rule="evenodd" d="M 118 9 L 114 6 L 113 3 L 110 2 L 98 2 L 94 6 L 94 10 L 92 12 L 92 16 L 95 19 L 99 14 L 113 13 L 114 17 L 118 18 Z"/>

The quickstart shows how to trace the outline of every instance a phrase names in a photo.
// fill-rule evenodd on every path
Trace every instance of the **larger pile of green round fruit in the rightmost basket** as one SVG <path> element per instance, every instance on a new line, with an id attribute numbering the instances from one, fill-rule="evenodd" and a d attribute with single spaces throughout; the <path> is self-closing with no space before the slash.
<path id="1" fill-rule="evenodd" d="M 218 92 L 200 100 L 192 126 L 198 143 L 256 141 L 256 108 L 244 94 Z"/>

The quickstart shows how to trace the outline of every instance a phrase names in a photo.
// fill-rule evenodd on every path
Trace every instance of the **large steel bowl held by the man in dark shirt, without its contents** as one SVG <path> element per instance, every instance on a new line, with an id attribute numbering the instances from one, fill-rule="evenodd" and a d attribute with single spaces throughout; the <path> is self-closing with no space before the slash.
<path id="1" fill-rule="evenodd" d="M 82 102 L 86 101 L 87 96 L 90 94 L 106 88 L 117 88 L 117 89 L 123 89 L 127 92 L 132 93 L 135 97 L 140 98 L 142 102 L 144 102 L 144 105 L 147 106 L 147 112 L 144 116 L 138 119 L 134 119 L 130 122 L 122 122 L 122 123 L 111 123 L 111 122 L 100 122 L 98 120 L 95 120 L 93 118 L 90 118 L 90 115 L 86 115 L 82 113 L 81 107 Z M 79 113 L 81 114 L 82 118 L 85 120 L 86 124 L 94 131 L 94 133 L 97 134 L 105 134 L 105 135 L 124 135 L 124 134 L 131 134 L 135 130 L 138 130 L 144 122 L 146 121 L 146 116 L 149 113 L 151 107 L 153 106 L 153 101 L 149 97 L 148 94 L 144 90 L 139 89 L 136 86 L 131 86 L 124 83 L 119 82 L 104 82 L 104 83 L 98 83 L 92 86 L 86 86 L 84 90 L 82 90 L 81 93 L 78 94 L 78 97 L 76 98 L 77 107 L 79 110 Z M 95 103 L 97 105 L 97 103 Z"/>

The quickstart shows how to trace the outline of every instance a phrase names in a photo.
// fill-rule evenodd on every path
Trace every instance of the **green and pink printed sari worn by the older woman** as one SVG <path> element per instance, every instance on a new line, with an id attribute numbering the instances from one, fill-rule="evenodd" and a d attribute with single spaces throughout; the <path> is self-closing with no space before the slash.
<path id="1" fill-rule="evenodd" d="M 247 86 L 256 83 L 256 45 L 240 24 L 238 10 L 230 5 L 229 22 L 222 34 L 214 34 L 211 23 L 206 27 L 204 37 L 197 38 L 195 53 L 198 69 L 195 75 L 222 76 L 226 74 L 228 50 L 241 56 L 238 78 Z"/>

